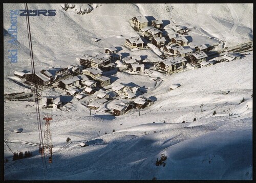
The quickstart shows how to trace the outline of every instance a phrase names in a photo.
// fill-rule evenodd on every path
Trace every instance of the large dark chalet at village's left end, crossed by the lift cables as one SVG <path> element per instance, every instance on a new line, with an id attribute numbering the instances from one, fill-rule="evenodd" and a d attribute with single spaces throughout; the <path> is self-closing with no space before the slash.
<path id="1" fill-rule="evenodd" d="M 45 74 L 42 74 L 40 72 L 28 73 L 26 75 L 26 81 L 34 84 L 36 83 L 40 86 L 46 86 L 52 83 L 52 79 L 50 77 L 47 77 Z"/>

